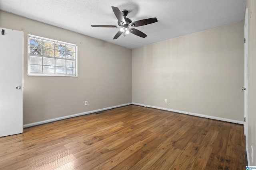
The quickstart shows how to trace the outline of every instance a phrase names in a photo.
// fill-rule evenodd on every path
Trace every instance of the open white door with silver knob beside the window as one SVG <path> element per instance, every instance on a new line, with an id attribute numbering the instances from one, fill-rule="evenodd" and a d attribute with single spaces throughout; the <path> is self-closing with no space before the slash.
<path id="1" fill-rule="evenodd" d="M 3 137 L 23 132 L 23 32 L 1 27 L 0 31 L 0 137 Z"/>

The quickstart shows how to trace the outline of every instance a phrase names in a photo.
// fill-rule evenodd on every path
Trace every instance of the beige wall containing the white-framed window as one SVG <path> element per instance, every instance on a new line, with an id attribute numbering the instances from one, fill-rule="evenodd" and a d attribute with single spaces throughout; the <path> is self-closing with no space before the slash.
<path id="1" fill-rule="evenodd" d="M 4 11 L 0 27 L 24 31 L 24 124 L 132 102 L 131 49 Z M 28 76 L 28 34 L 78 45 L 78 77 Z"/>

